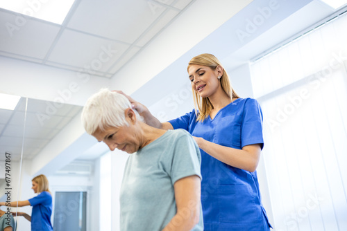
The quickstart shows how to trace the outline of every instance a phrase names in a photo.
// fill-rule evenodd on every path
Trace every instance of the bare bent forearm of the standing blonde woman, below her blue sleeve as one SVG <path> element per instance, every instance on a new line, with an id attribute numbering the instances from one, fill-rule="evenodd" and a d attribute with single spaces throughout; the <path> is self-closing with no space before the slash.
<path id="1" fill-rule="evenodd" d="M 203 138 L 194 137 L 198 147 L 227 165 L 255 172 L 260 159 L 260 145 L 247 145 L 243 149 L 234 149 L 217 145 Z"/>

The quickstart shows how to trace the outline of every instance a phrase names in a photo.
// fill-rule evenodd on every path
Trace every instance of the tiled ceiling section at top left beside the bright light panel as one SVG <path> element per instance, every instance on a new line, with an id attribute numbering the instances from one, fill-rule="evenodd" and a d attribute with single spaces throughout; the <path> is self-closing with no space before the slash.
<path id="1" fill-rule="evenodd" d="M 62 25 L 0 8 L 0 55 L 110 78 L 194 1 L 75 0 Z"/>

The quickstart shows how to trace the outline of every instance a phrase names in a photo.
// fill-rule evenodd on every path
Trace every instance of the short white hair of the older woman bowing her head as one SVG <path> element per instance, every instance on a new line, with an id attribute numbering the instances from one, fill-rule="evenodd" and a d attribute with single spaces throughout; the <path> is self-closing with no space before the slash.
<path id="1" fill-rule="evenodd" d="M 83 127 L 88 134 L 92 135 L 97 129 L 105 131 L 107 127 L 122 127 L 129 125 L 126 122 L 125 110 L 131 108 L 125 95 L 101 89 L 92 95 L 83 107 L 81 119 Z M 141 120 L 136 110 L 136 117 Z"/>

